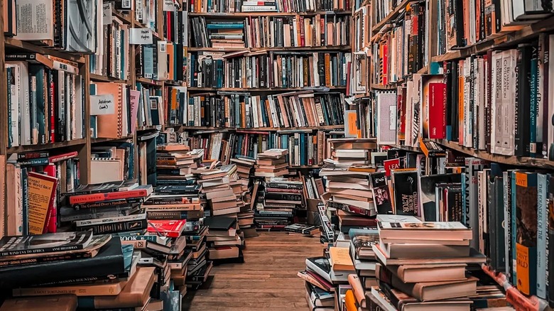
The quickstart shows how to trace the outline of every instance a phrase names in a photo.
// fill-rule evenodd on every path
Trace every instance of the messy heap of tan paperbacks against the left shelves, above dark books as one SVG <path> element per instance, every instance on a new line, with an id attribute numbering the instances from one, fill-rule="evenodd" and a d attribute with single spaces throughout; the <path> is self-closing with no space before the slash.
<path id="1" fill-rule="evenodd" d="M 192 185 L 192 170 L 197 168 L 204 149 L 190 151 L 180 143 L 167 143 L 156 147 L 156 185 Z"/>

